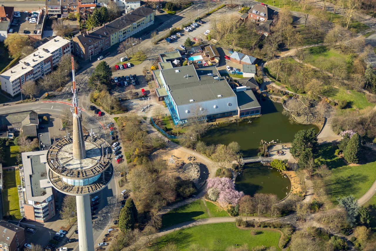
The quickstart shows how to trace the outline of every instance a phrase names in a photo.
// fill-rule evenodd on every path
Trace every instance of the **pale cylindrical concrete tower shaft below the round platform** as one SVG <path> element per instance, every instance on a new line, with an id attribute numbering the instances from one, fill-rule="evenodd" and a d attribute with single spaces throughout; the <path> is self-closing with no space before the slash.
<path id="1" fill-rule="evenodd" d="M 76 196 L 77 227 L 80 251 L 94 250 L 93 228 L 91 225 L 90 195 Z"/>

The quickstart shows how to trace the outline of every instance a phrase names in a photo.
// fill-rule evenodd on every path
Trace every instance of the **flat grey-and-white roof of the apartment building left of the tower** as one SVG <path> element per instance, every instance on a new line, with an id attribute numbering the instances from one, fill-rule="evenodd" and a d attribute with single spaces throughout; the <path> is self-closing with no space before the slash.
<path id="1" fill-rule="evenodd" d="M 43 180 L 48 179 L 47 152 L 48 150 L 21 153 L 27 200 L 43 202 L 52 195 L 51 187 L 41 185 L 45 184 Z"/>

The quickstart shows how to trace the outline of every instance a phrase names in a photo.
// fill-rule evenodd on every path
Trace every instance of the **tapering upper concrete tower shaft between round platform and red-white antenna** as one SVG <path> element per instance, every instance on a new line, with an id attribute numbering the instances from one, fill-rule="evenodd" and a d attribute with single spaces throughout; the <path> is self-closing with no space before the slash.
<path id="1" fill-rule="evenodd" d="M 83 140 L 81 118 L 78 114 L 73 113 L 73 158 L 85 159 L 85 141 Z"/>

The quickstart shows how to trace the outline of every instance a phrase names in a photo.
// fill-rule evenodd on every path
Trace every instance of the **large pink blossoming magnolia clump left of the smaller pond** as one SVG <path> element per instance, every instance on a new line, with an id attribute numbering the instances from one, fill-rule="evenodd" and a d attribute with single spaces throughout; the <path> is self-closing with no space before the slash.
<path id="1" fill-rule="evenodd" d="M 209 199 L 217 201 L 221 207 L 228 204 L 237 205 L 243 192 L 235 190 L 235 184 L 229 178 L 209 178 L 207 181 Z"/>

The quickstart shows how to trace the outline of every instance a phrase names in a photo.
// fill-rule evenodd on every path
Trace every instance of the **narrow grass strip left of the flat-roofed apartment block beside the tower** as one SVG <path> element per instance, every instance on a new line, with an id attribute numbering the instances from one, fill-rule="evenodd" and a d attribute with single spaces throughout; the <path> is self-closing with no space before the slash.
<path id="1" fill-rule="evenodd" d="M 21 185 L 20 171 L 3 172 L 4 186 L 3 188 L 3 206 L 5 215 L 13 215 L 15 219 L 21 219 L 20 204 L 18 202 L 17 185 Z"/>

